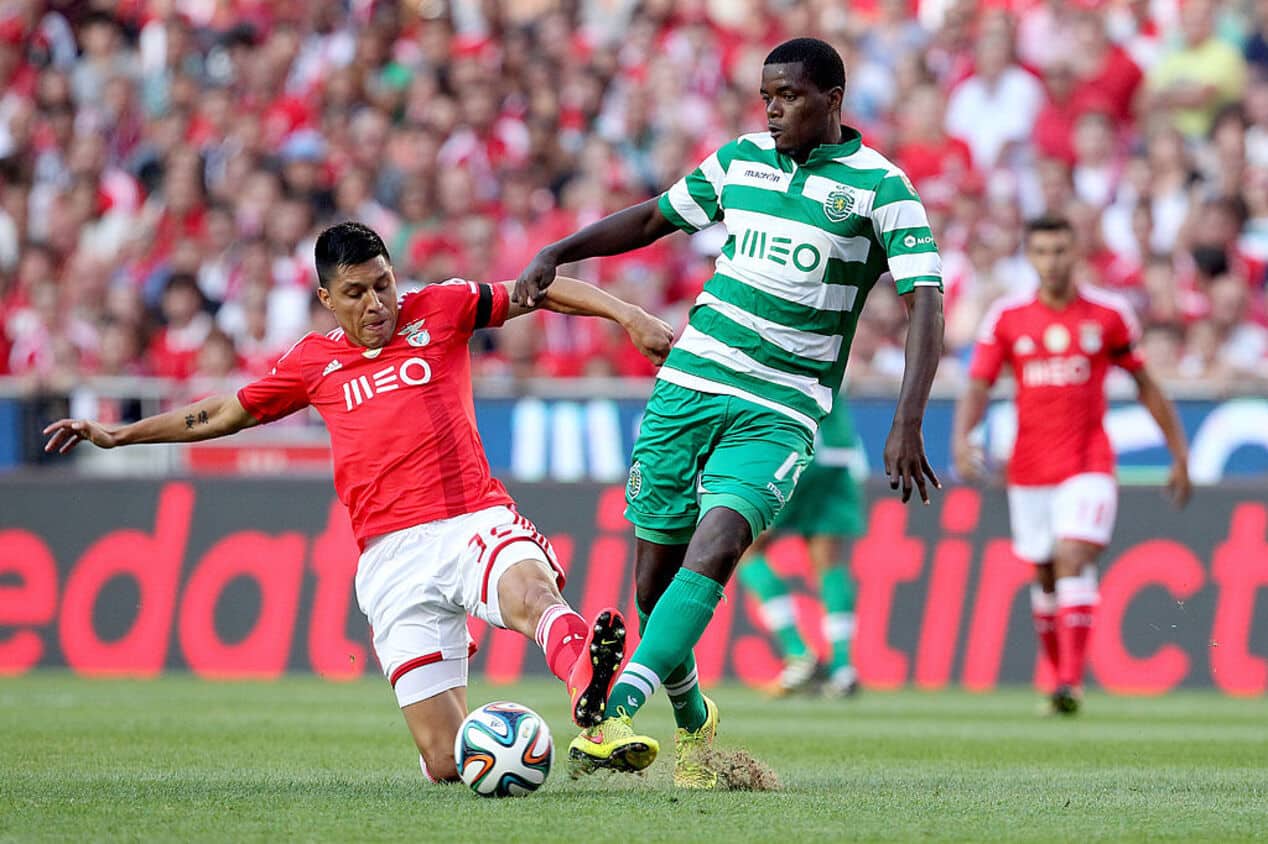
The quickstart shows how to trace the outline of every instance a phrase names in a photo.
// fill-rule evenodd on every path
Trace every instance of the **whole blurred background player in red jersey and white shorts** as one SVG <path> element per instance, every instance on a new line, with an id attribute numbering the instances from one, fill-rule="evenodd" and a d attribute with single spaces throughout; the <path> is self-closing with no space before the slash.
<path id="1" fill-rule="evenodd" d="M 1167 437 L 1173 459 L 1167 487 L 1177 506 L 1189 497 L 1188 446 L 1175 408 L 1136 351 L 1139 327 L 1130 307 L 1074 283 L 1069 221 L 1028 223 L 1026 257 L 1038 274 L 1038 290 L 1002 299 L 987 314 L 969 389 L 956 406 L 952 456 L 961 476 L 981 475 L 981 455 L 969 432 L 1007 364 L 1017 381 L 1017 441 L 1008 463 L 1013 550 L 1035 564 L 1031 608 L 1040 659 L 1051 663 L 1056 677 L 1051 707 L 1074 713 L 1098 602 L 1096 560 L 1110 542 L 1118 507 L 1103 423 L 1111 364 L 1131 373 L 1141 404 Z"/>

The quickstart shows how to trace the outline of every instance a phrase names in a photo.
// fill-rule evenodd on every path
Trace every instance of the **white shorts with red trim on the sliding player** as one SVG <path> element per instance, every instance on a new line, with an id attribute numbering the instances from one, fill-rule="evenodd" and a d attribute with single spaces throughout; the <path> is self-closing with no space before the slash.
<path id="1" fill-rule="evenodd" d="M 505 627 L 497 584 L 524 560 L 545 565 L 563 588 L 550 542 L 533 522 L 502 506 L 366 544 L 356 565 L 356 602 L 401 706 L 467 684 L 467 659 L 476 653 L 467 616 Z"/>

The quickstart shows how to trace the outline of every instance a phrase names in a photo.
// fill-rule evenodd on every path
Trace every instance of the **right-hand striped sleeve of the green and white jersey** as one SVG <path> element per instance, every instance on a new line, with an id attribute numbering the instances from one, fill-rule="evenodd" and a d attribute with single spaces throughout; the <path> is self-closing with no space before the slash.
<path id="1" fill-rule="evenodd" d="M 903 171 L 891 172 L 876 186 L 871 221 L 900 294 L 919 286 L 942 289 L 942 257 L 929 217 Z"/>

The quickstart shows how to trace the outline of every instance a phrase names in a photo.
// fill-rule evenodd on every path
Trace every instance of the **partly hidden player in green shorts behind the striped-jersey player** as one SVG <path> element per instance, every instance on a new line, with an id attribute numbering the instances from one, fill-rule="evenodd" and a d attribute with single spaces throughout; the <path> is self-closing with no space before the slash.
<path id="1" fill-rule="evenodd" d="M 832 413 L 819 423 L 814 457 L 787 506 L 771 530 L 757 537 L 739 561 L 739 583 L 757 598 L 762 621 L 775 637 L 784 659 L 776 689 L 791 694 L 810 688 L 819 679 L 819 658 L 796 627 L 796 608 L 789 584 L 771 568 L 766 549 L 772 536 L 791 535 L 805 540 L 810 565 L 819 578 L 823 601 L 823 637 L 832 648 L 823 693 L 850 697 L 858 692 L 858 672 L 850 662 L 855 637 L 855 582 L 850 577 L 847 544 L 864 532 L 866 474 L 862 445 L 855 433 L 850 406 L 837 397 Z"/>

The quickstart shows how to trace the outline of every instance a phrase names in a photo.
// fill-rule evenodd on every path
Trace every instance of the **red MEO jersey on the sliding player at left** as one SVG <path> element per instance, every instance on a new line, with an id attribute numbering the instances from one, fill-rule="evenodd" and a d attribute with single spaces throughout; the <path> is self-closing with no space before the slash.
<path id="1" fill-rule="evenodd" d="M 446 281 L 401 299 L 397 332 L 377 350 L 336 328 L 309 333 L 238 400 L 260 422 L 304 407 L 330 430 L 335 489 L 364 547 L 375 536 L 512 504 L 476 430 L 472 332 L 506 321 L 501 285 Z"/>

